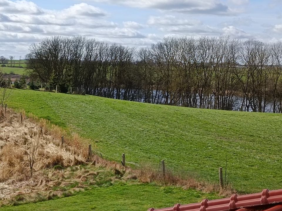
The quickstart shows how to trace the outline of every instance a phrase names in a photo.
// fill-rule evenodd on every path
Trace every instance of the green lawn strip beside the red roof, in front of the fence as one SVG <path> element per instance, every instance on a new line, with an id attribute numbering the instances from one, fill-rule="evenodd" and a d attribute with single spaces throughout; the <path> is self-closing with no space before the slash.
<path id="1" fill-rule="evenodd" d="M 144 211 L 150 207 L 171 207 L 176 202 L 182 204 L 200 202 L 202 198 L 214 199 L 214 195 L 203 194 L 191 189 L 183 190 L 181 188 L 160 187 L 152 184 L 117 183 L 110 187 L 93 188 L 67 198 L 15 207 L 3 207 L 0 210 Z"/>

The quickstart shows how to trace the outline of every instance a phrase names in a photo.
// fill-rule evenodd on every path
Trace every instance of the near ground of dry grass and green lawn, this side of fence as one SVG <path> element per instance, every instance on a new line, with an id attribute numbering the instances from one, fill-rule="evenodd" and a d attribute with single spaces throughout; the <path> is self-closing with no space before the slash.
<path id="1" fill-rule="evenodd" d="M 149 168 L 133 170 L 96 155 L 88 157 L 88 141 L 77 134 L 46 120 L 19 116 L 9 108 L 5 115 L 0 112 L 0 210 L 73 210 L 75 204 L 75 210 L 141 211 L 220 197 L 209 184 L 199 185 L 209 194 L 189 188 L 191 180 L 175 187 L 162 176 L 158 181 L 155 174 L 148 183 L 153 173 Z"/>

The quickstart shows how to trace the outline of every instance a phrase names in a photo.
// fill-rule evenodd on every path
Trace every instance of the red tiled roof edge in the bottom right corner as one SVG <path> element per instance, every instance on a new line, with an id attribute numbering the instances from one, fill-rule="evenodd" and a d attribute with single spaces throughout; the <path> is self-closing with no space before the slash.
<path id="1" fill-rule="evenodd" d="M 201 203 L 176 204 L 174 207 L 157 210 L 150 208 L 148 211 L 246 211 L 248 208 L 256 207 L 265 211 L 282 211 L 282 189 L 272 191 L 265 189 L 261 193 L 240 196 L 233 194 L 230 198 L 210 201 L 204 199 Z"/>

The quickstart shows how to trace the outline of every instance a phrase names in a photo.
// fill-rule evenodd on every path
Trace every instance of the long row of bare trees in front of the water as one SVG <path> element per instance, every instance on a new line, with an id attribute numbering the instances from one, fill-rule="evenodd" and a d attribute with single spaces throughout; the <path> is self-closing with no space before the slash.
<path id="1" fill-rule="evenodd" d="M 61 92 L 193 108 L 282 113 L 282 42 L 164 38 L 147 48 L 85 37 L 33 43 L 29 74 Z"/>

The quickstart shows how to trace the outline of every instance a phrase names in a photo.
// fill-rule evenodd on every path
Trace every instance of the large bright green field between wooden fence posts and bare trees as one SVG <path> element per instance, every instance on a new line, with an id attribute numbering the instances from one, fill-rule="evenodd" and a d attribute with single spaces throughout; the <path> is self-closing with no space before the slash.
<path id="1" fill-rule="evenodd" d="M 78 131 L 107 159 L 152 162 L 218 180 L 225 166 L 240 192 L 282 186 L 281 115 L 203 110 L 94 96 L 14 90 L 9 104 Z M 9 105 L 9 106 L 10 106 Z"/>

